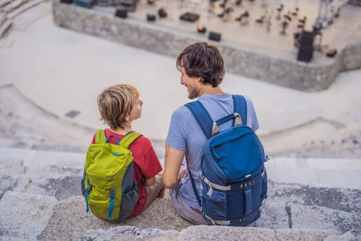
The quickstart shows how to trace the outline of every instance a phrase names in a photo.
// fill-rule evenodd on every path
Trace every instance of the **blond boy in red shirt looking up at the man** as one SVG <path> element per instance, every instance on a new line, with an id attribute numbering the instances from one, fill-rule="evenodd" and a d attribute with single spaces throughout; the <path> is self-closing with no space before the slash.
<path id="1" fill-rule="evenodd" d="M 126 84 L 108 87 L 98 96 L 101 119 L 110 127 L 105 129 L 107 137 L 113 135 L 121 140 L 132 131 L 131 123 L 142 115 L 143 102 L 139 96 L 135 87 Z M 108 142 L 116 144 L 116 138 L 110 137 Z M 95 135 L 92 143 L 95 143 Z M 145 136 L 137 138 L 129 149 L 134 157 L 134 181 L 139 183 L 138 202 L 131 214 L 136 216 L 149 207 L 155 198 L 163 198 L 162 178 L 157 175 L 162 171 L 162 166 L 151 141 Z"/>

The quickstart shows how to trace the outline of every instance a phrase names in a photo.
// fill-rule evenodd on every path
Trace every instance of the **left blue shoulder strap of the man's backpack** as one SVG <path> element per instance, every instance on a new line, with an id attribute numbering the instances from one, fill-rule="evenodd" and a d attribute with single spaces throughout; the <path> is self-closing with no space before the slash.
<path id="1" fill-rule="evenodd" d="M 190 109 L 193 116 L 197 120 L 198 125 L 201 127 L 202 131 L 209 139 L 212 137 L 212 119 L 210 118 L 206 108 L 201 104 L 200 101 L 193 101 L 186 104 L 186 107 Z"/>

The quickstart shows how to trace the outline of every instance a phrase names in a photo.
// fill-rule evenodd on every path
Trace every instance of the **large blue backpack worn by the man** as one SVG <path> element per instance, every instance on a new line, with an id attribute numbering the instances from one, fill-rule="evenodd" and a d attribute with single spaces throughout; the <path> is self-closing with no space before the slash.
<path id="1" fill-rule="evenodd" d="M 259 219 L 267 198 L 268 158 L 259 138 L 245 125 L 245 98 L 232 98 L 234 113 L 214 122 L 199 101 L 186 104 L 208 138 L 201 160 L 200 198 L 191 173 L 190 180 L 208 224 L 247 226 Z M 232 127 L 219 132 L 218 126 L 230 120 Z"/>

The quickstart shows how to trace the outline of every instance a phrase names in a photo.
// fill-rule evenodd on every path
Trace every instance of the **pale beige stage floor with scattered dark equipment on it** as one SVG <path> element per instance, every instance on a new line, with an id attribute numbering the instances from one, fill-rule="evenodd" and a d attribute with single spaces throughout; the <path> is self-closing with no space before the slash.
<path id="1" fill-rule="evenodd" d="M 242 1 L 241 6 L 236 6 L 235 1 L 228 1 L 227 7 L 233 8 L 227 21 L 217 16 L 223 12 L 219 6 L 223 1 L 217 1 L 213 13 L 208 11 L 209 1 L 155 1 L 149 5 L 146 1 L 139 1 L 134 12 L 129 12 L 130 19 L 146 22 L 146 14 L 155 14 L 157 19 L 148 23 L 159 27 L 164 27 L 170 31 L 181 31 L 185 34 L 201 34 L 197 32 L 197 25 L 201 24 L 207 29 L 205 33 L 208 36 L 209 31 L 221 33 L 221 41 L 228 45 L 239 45 L 242 48 L 250 49 L 252 52 L 261 52 L 263 54 L 272 54 L 283 59 L 296 59 L 297 48 L 294 47 L 294 32 L 298 31 L 298 19 L 306 17 L 305 30 L 311 30 L 318 15 L 319 1 Z M 276 8 L 283 4 L 282 14 L 295 12 L 298 8 L 298 17 L 292 17 L 286 28 L 286 34 L 281 34 L 282 20 L 277 19 L 278 12 Z M 168 16 L 160 18 L 157 14 L 160 8 L 166 10 Z M 115 8 L 95 7 L 96 10 L 114 14 Z M 250 17 L 247 25 L 241 25 L 235 21 L 239 15 L 248 11 Z M 199 19 L 193 23 L 179 19 L 184 12 L 194 12 L 199 14 Z M 267 24 L 256 23 L 256 19 L 266 15 L 271 19 L 270 30 L 267 31 Z M 283 18 L 281 18 L 283 19 Z M 325 28 L 322 37 L 322 45 L 328 48 L 342 50 L 349 41 L 353 39 L 361 40 L 361 8 L 358 6 L 345 5 L 340 11 L 340 17 L 333 21 L 332 25 Z M 328 48 L 324 48 L 327 50 Z M 312 63 L 328 63 L 331 59 L 320 52 L 314 53 Z"/>

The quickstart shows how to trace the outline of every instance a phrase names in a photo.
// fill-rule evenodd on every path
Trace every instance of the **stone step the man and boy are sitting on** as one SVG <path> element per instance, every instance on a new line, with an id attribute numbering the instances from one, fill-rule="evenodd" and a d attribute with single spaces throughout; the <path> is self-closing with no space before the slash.
<path id="1" fill-rule="evenodd" d="M 294 203 L 290 207 L 287 211 L 277 204 L 266 205 L 261 218 L 250 227 L 208 227 L 184 220 L 171 200 L 162 198 L 139 216 L 113 224 L 86 213 L 83 196 L 57 201 L 52 196 L 8 191 L 0 201 L 3 213 L 0 235 L 24 240 L 94 240 L 95 237 L 96 240 L 117 240 L 116 237 L 131 240 L 137 236 L 151 240 L 239 240 L 237 237 L 245 237 L 242 240 L 340 240 L 347 235 L 353 240 L 361 238 L 360 213 L 351 220 L 353 214 L 334 209 L 309 206 L 307 210 L 307 206 Z M 292 215 L 295 209 L 296 216 Z M 312 212 L 314 215 L 310 215 Z M 289 228 L 289 219 L 297 227 Z M 344 229 L 344 223 L 351 226 Z"/>

